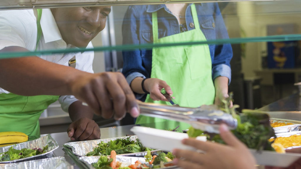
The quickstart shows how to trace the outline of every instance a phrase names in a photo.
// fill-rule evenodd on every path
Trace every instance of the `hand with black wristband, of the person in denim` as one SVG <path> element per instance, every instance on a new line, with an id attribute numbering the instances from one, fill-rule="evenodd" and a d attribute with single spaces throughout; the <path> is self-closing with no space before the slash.
<path id="1" fill-rule="evenodd" d="M 160 80 L 158 78 L 148 78 L 144 81 L 144 88 L 146 91 L 150 92 L 150 98 L 158 101 L 158 100 L 163 100 L 163 101 L 168 101 L 163 94 L 161 94 L 161 89 L 165 89 L 165 91 L 168 94 L 172 94 L 172 90 L 170 89 L 169 85 L 166 84 L 165 81 Z"/>

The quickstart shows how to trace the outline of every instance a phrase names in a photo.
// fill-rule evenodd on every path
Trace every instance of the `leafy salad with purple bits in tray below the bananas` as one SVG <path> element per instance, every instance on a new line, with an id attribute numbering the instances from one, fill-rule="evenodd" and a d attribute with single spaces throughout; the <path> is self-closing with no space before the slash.
<path id="1" fill-rule="evenodd" d="M 11 160 L 17 160 L 20 158 L 26 158 L 31 157 L 38 154 L 43 154 L 48 151 L 48 146 L 43 147 L 43 149 L 40 148 L 34 148 L 34 149 L 13 149 L 11 146 L 7 152 L 3 152 L 0 154 L 0 161 L 11 161 Z"/>

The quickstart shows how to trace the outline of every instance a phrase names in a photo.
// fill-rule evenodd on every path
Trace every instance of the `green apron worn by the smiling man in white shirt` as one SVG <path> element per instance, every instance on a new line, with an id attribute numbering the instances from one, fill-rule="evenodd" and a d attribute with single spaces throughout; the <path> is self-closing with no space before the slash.
<path id="1" fill-rule="evenodd" d="M 37 45 L 42 35 L 40 19 L 42 9 L 37 9 L 38 37 Z M 36 48 L 37 49 L 37 48 Z M 20 84 L 22 85 L 22 84 Z M 29 140 L 40 137 L 39 117 L 47 107 L 59 96 L 20 96 L 13 93 L 0 94 L 0 132 L 20 131 L 29 136 Z"/>

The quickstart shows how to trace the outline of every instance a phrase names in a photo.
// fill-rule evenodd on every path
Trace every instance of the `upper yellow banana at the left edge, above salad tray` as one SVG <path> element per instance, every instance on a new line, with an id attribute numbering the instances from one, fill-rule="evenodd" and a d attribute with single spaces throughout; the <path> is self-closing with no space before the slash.
<path id="1" fill-rule="evenodd" d="M 0 132 L 0 144 L 22 143 L 28 140 L 28 136 L 18 131 Z"/>

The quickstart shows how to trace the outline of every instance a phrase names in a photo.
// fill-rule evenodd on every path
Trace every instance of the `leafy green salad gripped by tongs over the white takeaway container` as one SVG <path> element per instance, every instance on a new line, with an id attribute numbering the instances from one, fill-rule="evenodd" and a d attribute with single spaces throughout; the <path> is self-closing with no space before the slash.
<path id="1" fill-rule="evenodd" d="M 275 151 L 271 146 L 271 142 L 268 141 L 268 139 L 275 136 L 274 130 L 269 123 L 269 116 L 260 111 L 247 109 L 243 110 L 242 113 L 238 113 L 235 110 L 239 107 L 238 105 L 233 105 L 233 107 L 229 108 L 232 97 L 233 94 L 230 94 L 230 97 L 223 100 L 222 105 L 219 106 L 219 109 L 237 119 L 237 128 L 232 133 L 251 149 Z M 189 137 L 206 135 L 207 140 L 224 144 L 219 134 L 203 133 L 203 131 L 192 127 L 187 132 Z"/>

